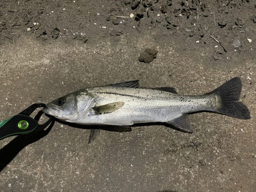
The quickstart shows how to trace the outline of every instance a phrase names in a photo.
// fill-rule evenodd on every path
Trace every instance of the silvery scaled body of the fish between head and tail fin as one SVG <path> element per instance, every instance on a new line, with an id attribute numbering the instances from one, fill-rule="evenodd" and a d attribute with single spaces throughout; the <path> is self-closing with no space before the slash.
<path id="1" fill-rule="evenodd" d="M 207 100 L 209 102 L 210 99 L 204 95 L 180 96 L 159 90 L 137 88 L 135 91 L 133 88 L 126 88 L 124 90 L 118 87 L 97 87 L 87 89 L 87 91 L 95 97 L 98 105 L 114 101 L 123 101 L 125 104 L 115 113 L 95 118 L 92 118 L 94 116 L 92 111 L 90 116 L 87 115 L 81 119 L 81 124 L 85 122 L 104 124 L 106 119 L 115 119 L 115 121 L 122 122 L 122 118 L 129 118 L 133 123 L 152 122 L 152 119 L 155 122 L 166 122 L 184 113 L 208 110 L 212 107 L 211 105 L 206 105 Z M 189 101 L 191 101 L 190 105 L 188 105 Z M 133 113 L 130 112 L 131 110 Z"/>

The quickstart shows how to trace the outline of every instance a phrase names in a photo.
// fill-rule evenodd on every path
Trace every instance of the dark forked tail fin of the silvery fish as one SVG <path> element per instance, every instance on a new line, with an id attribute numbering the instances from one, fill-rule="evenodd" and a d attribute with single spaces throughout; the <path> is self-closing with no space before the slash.
<path id="1" fill-rule="evenodd" d="M 216 90 L 208 93 L 217 95 L 220 98 L 218 107 L 212 110 L 227 116 L 238 119 L 250 119 L 250 112 L 239 100 L 242 89 L 242 82 L 239 77 L 234 77 L 225 82 Z"/>

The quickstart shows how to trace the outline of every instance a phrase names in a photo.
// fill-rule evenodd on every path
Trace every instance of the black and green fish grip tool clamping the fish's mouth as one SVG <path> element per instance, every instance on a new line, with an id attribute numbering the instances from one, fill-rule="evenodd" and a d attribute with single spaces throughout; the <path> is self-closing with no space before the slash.
<path id="1" fill-rule="evenodd" d="M 30 117 L 37 108 L 47 108 L 47 106 L 45 103 L 32 104 L 19 114 L 0 122 L 0 140 L 14 135 L 23 135 L 44 130 L 52 122 L 53 117 L 50 117 L 44 124 L 38 124 L 35 119 Z"/>

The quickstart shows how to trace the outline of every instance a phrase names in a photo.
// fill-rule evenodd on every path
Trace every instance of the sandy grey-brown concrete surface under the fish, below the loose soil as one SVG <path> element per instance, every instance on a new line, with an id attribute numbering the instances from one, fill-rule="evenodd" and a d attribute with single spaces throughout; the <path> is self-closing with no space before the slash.
<path id="1" fill-rule="evenodd" d="M 243 83 L 240 100 L 251 119 L 203 112 L 188 116 L 193 134 L 154 124 L 131 132 L 101 130 L 90 144 L 91 127 L 55 121 L 49 133 L 0 141 L 0 191 L 254 191 L 254 58 L 236 55 L 239 62 L 227 58 L 220 65 L 207 56 L 216 43 L 211 37 L 208 48 L 195 49 L 194 41 L 168 36 L 158 41 L 157 35 L 148 30 L 86 44 L 49 44 L 20 35 L 15 45 L 11 40 L 2 44 L 0 121 L 33 103 L 91 86 L 139 79 L 141 87 L 199 95 L 237 76 Z M 140 62 L 147 47 L 158 50 L 157 58 Z M 43 115 L 39 122 L 47 119 Z"/>

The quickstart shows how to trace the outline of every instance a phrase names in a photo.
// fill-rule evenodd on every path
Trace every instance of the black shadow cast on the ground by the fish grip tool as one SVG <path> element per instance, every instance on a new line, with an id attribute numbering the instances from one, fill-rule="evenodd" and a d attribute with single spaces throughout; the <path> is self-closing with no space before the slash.
<path id="1" fill-rule="evenodd" d="M 43 114 L 42 111 L 39 111 L 35 120 L 38 121 Z M 45 137 L 52 129 L 54 125 L 54 120 L 48 126 L 46 130 L 32 132 L 26 135 L 18 135 L 11 142 L 5 145 L 0 149 L 0 172 L 12 161 L 12 159 L 25 148 L 27 145 L 40 140 Z"/>

